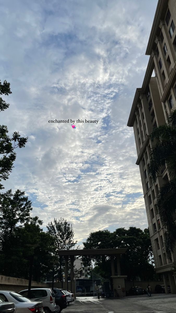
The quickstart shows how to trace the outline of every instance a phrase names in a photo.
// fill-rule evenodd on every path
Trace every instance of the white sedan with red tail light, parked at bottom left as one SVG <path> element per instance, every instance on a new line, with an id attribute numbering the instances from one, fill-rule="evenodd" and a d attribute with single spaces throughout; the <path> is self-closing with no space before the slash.
<path id="1" fill-rule="evenodd" d="M 16 313 L 44 313 L 41 301 L 31 301 L 15 291 L 0 290 L 0 298 L 6 302 L 14 302 Z"/>

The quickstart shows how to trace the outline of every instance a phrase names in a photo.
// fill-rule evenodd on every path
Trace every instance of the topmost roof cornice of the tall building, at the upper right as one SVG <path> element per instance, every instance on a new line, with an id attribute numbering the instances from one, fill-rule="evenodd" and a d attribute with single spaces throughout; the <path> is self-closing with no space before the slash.
<path id="1" fill-rule="evenodd" d="M 167 6 L 168 6 L 168 0 L 158 0 L 155 16 L 153 20 L 153 25 L 152 25 L 152 29 L 150 32 L 146 53 L 145 53 L 146 55 L 151 55 L 152 53 L 153 44 L 155 43 L 155 37 L 158 36 L 161 31 L 161 29 L 159 28 L 160 20 L 164 19 Z"/>

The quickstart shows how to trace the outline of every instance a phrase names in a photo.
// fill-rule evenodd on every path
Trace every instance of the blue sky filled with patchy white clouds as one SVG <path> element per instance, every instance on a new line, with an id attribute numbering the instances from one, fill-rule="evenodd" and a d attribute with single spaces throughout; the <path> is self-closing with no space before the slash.
<path id="1" fill-rule="evenodd" d="M 0 123 L 28 136 L 5 190 L 25 191 L 44 230 L 67 219 L 80 247 L 97 230 L 148 227 L 127 121 L 157 2 L 1 3 L 0 79 L 12 95 L 3 96 L 10 107 Z M 48 122 L 55 119 L 69 123 Z"/>

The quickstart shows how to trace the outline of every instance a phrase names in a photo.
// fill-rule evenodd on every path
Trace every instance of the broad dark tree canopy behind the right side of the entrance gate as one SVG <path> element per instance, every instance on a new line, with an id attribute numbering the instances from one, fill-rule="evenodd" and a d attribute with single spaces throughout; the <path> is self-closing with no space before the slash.
<path id="1" fill-rule="evenodd" d="M 85 249 L 127 248 L 126 254 L 121 256 L 121 274 L 127 275 L 128 280 L 136 277 L 141 279 L 153 278 L 154 267 L 152 246 L 148 229 L 130 227 L 118 228 L 113 233 L 109 230 L 100 230 L 90 233 L 83 242 Z M 86 263 L 87 260 L 84 259 Z M 88 262 L 94 261 L 96 273 L 104 278 L 111 276 L 111 261 L 108 255 L 92 255 Z"/>

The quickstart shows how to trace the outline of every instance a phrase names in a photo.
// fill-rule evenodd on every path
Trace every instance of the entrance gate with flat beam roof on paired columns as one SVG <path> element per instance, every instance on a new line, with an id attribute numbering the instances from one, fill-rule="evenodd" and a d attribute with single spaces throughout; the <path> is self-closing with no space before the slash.
<path id="1" fill-rule="evenodd" d="M 71 273 L 70 273 L 70 280 L 71 285 L 75 286 L 74 284 L 74 257 L 75 256 L 82 256 L 82 255 L 109 255 L 111 258 L 111 278 L 112 278 L 112 291 L 114 296 L 117 294 L 120 297 L 125 296 L 125 278 L 126 275 L 121 275 L 121 268 L 120 268 L 120 256 L 126 252 L 126 248 L 121 249 L 79 249 L 79 250 L 60 250 L 59 256 L 65 258 L 65 282 L 68 280 L 68 259 L 70 258 L 71 264 Z M 115 266 L 116 260 L 116 266 Z M 75 289 L 73 287 L 73 289 Z M 76 290 L 75 290 L 76 292 Z"/>

